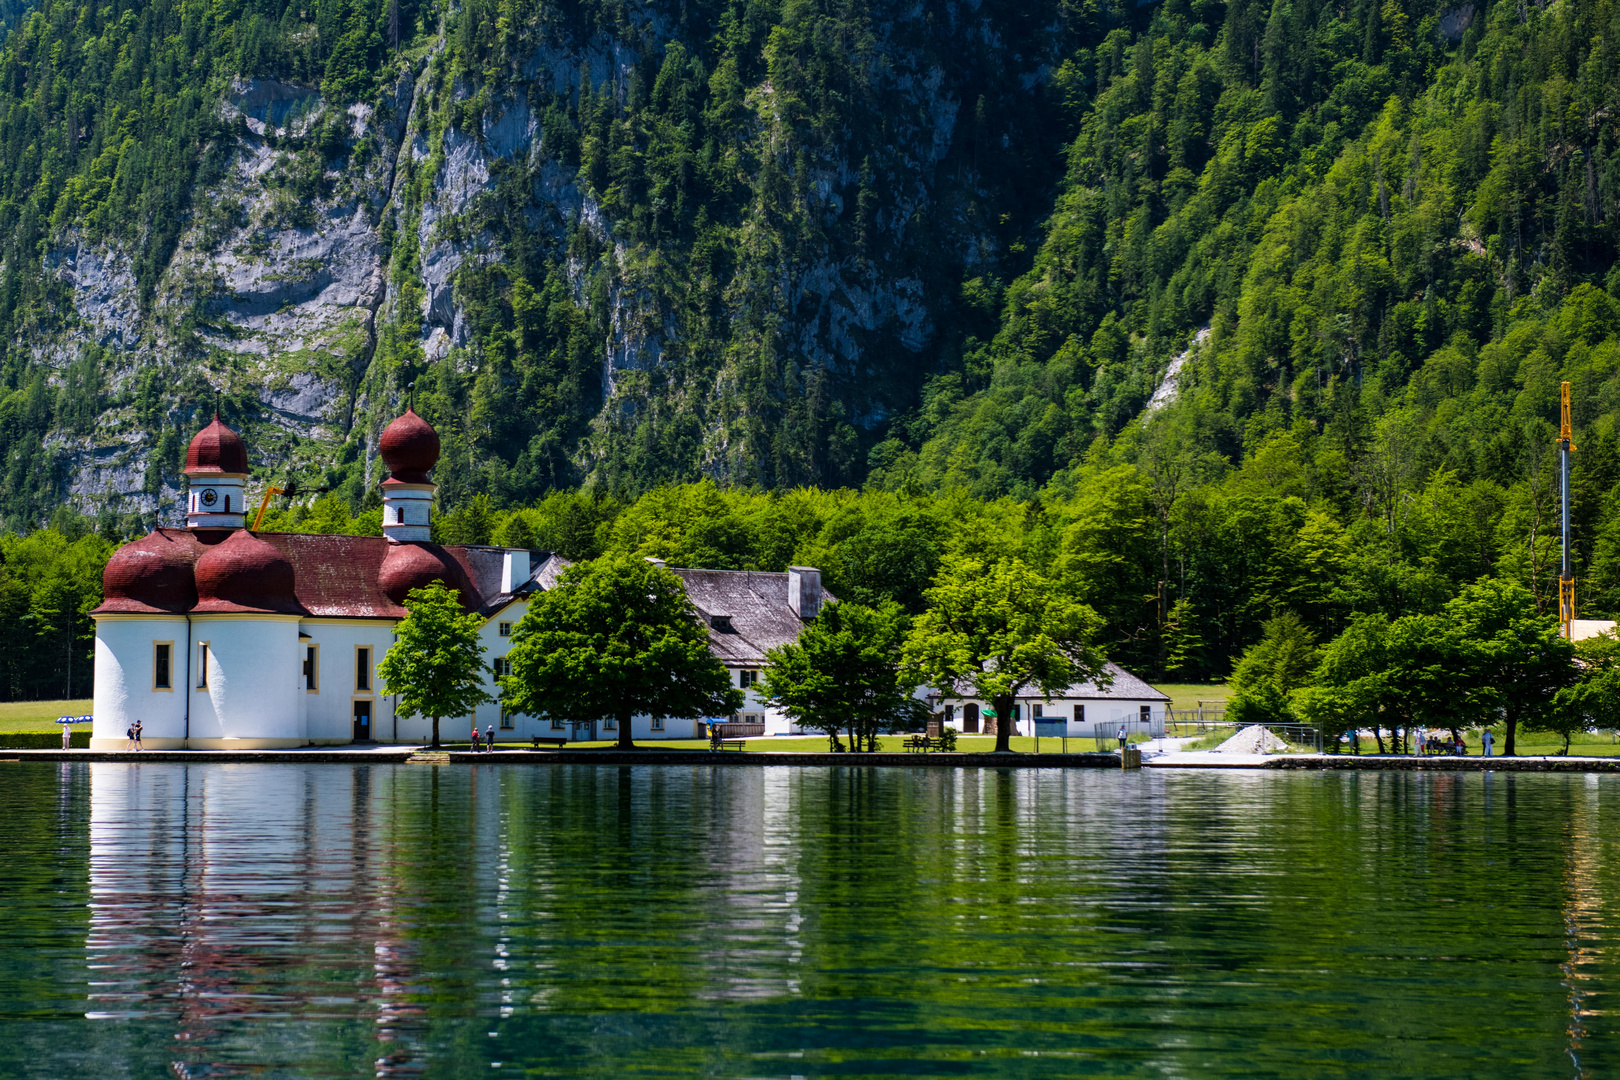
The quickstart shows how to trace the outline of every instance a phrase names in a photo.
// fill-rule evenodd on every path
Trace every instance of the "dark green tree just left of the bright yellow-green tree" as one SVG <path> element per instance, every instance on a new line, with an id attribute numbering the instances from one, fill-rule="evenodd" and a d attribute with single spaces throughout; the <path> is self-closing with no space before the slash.
<path id="1" fill-rule="evenodd" d="M 841 729 L 850 750 L 876 750 L 878 729 L 906 711 L 915 688 L 899 675 L 904 638 L 896 604 L 828 604 L 797 641 L 766 653 L 765 698 L 802 727 L 826 732 L 834 751 L 844 750 Z"/>

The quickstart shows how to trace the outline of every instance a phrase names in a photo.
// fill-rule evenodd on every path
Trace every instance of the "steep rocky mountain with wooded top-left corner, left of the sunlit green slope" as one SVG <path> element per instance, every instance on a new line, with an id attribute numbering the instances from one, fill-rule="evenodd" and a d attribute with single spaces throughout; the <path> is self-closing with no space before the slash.
<path id="1" fill-rule="evenodd" d="M 47 2 L 0 53 L 11 520 L 266 478 L 859 483 L 1027 267 L 1058 3 Z M 408 390 L 408 387 L 413 387 Z"/>

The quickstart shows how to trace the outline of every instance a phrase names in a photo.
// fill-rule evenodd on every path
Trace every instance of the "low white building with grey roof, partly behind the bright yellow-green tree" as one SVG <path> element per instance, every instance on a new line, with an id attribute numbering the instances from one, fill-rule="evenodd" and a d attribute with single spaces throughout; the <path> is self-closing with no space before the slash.
<path id="1" fill-rule="evenodd" d="M 1043 696 L 1038 690 L 1019 695 L 1013 704 L 1013 733 L 1034 735 L 1035 719 L 1061 719 L 1063 735 L 1068 738 L 1092 738 L 1098 729 L 1103 732 L 1102 738 L 1113 738 L 1121 727 L 1132 735 L 1163 735 L 1170 696 L 1118 664 L 1108 664 L 1108 674 L 1111 680 L 1106 687 L 1085 682 L 1051 696 Z M 964 735 L 993 735 L 996 730 L 991 704 L 969 696 L 966 690 L 957 693 L 936 690 L 928 695 L 928 703 L 935 709 L 943 709 L 944 722 Z"/>

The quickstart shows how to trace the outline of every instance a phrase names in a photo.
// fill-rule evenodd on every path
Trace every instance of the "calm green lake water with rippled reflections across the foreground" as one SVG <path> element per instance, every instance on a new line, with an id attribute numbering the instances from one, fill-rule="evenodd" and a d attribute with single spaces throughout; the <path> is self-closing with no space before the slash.
<path id="1" fill-rule="evenodd" d="M 1620 1075 L 1617 784 L 0 764 L 0 1075 Z"/>

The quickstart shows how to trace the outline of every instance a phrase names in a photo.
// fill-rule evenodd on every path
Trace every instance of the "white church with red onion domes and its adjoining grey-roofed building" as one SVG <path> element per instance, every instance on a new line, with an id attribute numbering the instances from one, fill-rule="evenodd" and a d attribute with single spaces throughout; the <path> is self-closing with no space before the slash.
<path id="1" fill-rule="evenodd" d="M 484 619 L 488 690 L 528 599 L 567 560 L 514 547 L 431 542 L 439 436 L 407 410 L 377 445 L 384 536 L 253 533 L 248 450 L 219 416 L 186 450 L 186 528 L 120 547 L 96 619 L 92 750 L 123 750 L 136 721 L 149 750 L 262 750 L 353 742 L 421 743 L 431 721 L 395 714 L 376 669 L 405 617 L 405 594 L 442 581 Z M 753 690 L 765 653 L 794 641 L 823 602 L 820 573 L 680 570 L 710 648 L 747 704 L 729 717 L 637 717 L 635 738 L 698 738 L 706 721 L 787 733 Z M 831 597 L 828 597 L 831 599 Z M 614 738 L 612 721 L 510 716 L 499 704 L 442 719 L 441 737 L 494 725 L 502 742 Z"/>

